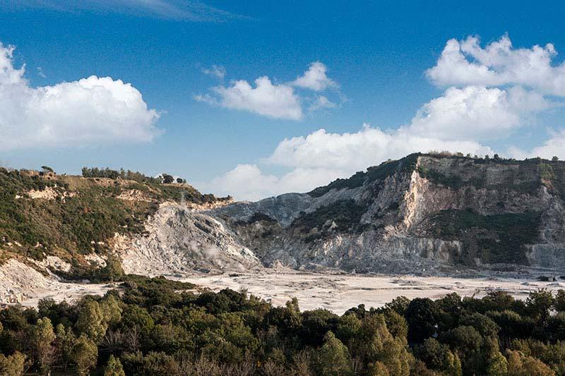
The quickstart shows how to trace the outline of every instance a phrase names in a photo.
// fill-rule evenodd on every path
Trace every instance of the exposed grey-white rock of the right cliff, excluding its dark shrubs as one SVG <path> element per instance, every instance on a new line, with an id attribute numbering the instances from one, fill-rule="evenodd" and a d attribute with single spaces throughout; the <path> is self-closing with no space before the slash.
<path id="1" fill-rule="evenodd" d="M 458 181 L 458 185 L 454 188 L 430 181 L 422 177 L 420 169 L 443 174 L 445 179 Z M 259 202 L 239 202 L 209 214 L 232 226 L 242 243 L 254 250 L 264 265 L 433 272 L 458 267 L 465 257 L 462 239 L 430 236 L 430 218 L 434 214 L 442 210 L 472 210 L 480 215 L 542 212 L 540 238 L 537 243 L 526 245 L 529 265 L 565 269 L 564 204 L 561 198 L 549 194 L 545 186 L 521 188 L 536 182 L 539 176 L 535 169 L 521 169 L 516 164 L 479 164 L 473 159 L 422 156 L 414 171 L 389 174 L 383 180 L 356 188 L 332 189 L 320 197 L 291 194 Z M 321 228 L 326 234 L 309 241 L 309 236 L 319 232 L 301 234 L 293 228 L 292 221 L 301 212 L 312 213 L 340 200 L 364 205 L 359 220 L 362 229 L 358 226 L 357 230 L 335 231 L 335 221 L 328 219 L 328 226 Z M 253 219 L 255 213 L 266 214 L 276 223 L 258 221 L 242 225 Z M 485 267 L 479 257 L 467 257 L 475 263 L 468 267 Z"/>

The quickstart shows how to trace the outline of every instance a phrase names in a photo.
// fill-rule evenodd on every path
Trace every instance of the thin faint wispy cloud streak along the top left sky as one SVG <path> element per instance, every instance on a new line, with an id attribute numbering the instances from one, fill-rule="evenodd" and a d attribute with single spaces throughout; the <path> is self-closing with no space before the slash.
<path id="1" fill-rule="evenodd" d="M 18 11 L 25 8 L 45 8 L 62 12 L 103 11 L 194 22 L 249 19 L 192 0 L 0 0 L 0 9 Z"/>

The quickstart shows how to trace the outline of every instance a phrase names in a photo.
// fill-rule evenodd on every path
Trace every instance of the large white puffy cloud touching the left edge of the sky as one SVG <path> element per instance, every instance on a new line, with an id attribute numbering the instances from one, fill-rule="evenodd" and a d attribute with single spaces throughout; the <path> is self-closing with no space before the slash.
<path id="1" fill-rule="evenodd" d="M 13 66 L 13 47 L 0 44 L 0 150 L 148 142 L 160 131 L 129 83 L 92 75 L 31 87 L 25 67 Z"/>

